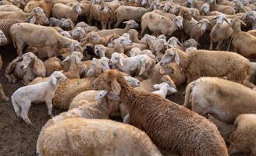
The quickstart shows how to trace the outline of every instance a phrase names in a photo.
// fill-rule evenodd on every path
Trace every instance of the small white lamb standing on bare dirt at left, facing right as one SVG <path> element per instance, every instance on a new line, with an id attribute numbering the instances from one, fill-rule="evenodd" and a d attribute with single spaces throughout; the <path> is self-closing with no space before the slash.
<path id="1" fill-rule="evenodd" d="M 16 115 L 21 117 L 28 125 L 32 126 L 32 122 L 28 118 L 28 111 L 31 102 L 45 101 L 48 108 L 48 115 L 52 115 L 52 98 L 55 90 L 60 82 L 65 81 L 67 78 L 61 72 L 56 71 L 50 76 L 50 80 L 45 83 L 38 83 L 20 87 L 12 94 L 12 106 Z"/>

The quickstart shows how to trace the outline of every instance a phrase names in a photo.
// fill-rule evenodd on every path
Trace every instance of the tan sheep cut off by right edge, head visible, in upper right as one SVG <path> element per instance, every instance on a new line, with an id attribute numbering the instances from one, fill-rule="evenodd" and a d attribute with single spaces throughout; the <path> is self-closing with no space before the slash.
<path id="1" fill-rule="evenodd" d="M 243 21 L 239 19 L 232 19 L 230 20 L 230 26 L 233 28 L 232 34 L 232 45 L 233 51 L 239 52 L 240 55 L 243 55 L 247 58 L 254 58 L 255 57 L 255 41 L 256 37 L 253 35 L 244 32 L 241 30 L 240 23 L 246 25 Z"/>

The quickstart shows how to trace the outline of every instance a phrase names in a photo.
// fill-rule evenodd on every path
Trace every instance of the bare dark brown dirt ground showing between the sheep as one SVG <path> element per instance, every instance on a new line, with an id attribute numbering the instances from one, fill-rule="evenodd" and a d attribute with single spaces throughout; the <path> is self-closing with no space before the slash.
<path id="1" fill-rule="evenodd" d="M 5 79 L 5 67 L 12 59 L 16 58 L 16 50 L 12 46 L 0 48 L 0 55 L 4 62 L 1 70 L 0 82 L 8 97 L 12 93 L 22 87 L 22 83 L 9 84 Z M 172 96 L 170 99 L 177 103 L 183 103 L 183 92 L 185 87 L 178 87 L 179 93 Z M 54 115 L 62 112 L 59 108 L 54 108 Z M 27 126 L 23 120 L 18 119 L 12 108 L 12 103 L 3 102 L 0 100 L 0 155 L 1 156 L 32 156 L 36 155 L 36 142 L 41 127 L 48 121 L 46 105 L 32 105 L 29 112 L 31 122 L 34 123 L 36 128 Z"/>

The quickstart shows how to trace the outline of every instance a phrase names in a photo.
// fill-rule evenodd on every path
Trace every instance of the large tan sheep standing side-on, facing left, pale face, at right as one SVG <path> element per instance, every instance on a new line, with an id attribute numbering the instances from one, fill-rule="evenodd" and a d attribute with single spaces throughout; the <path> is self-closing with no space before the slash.
<path id="1" fill-rule="evenodd" d="M 161 65 L 173 59 L 186 71 L 187 84 L 201 76 L 226 76 L 228 80 L 254 88 L 254 84 L 248 81 L 251 74 L 250 62 L 234 52 L 197 50 L 185 53 L 179 49 L 170 48 L 165 51 Z"/>

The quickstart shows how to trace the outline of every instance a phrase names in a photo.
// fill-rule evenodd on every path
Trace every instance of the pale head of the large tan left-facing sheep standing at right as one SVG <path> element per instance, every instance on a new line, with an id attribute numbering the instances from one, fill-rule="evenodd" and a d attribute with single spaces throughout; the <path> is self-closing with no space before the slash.
<path id="1" fill-rule="evenodd" d="M 165 66 L 167 63 L 172 62 L 173 58 L 175 59 L 175 62 L 179 64 L 180 59 L 177 52 L 174 50 L 174 48 L 167 49 L 165 51 L 165 55 L 162 56 L 162 60 L 160 61 L 161 66 Z"/>

